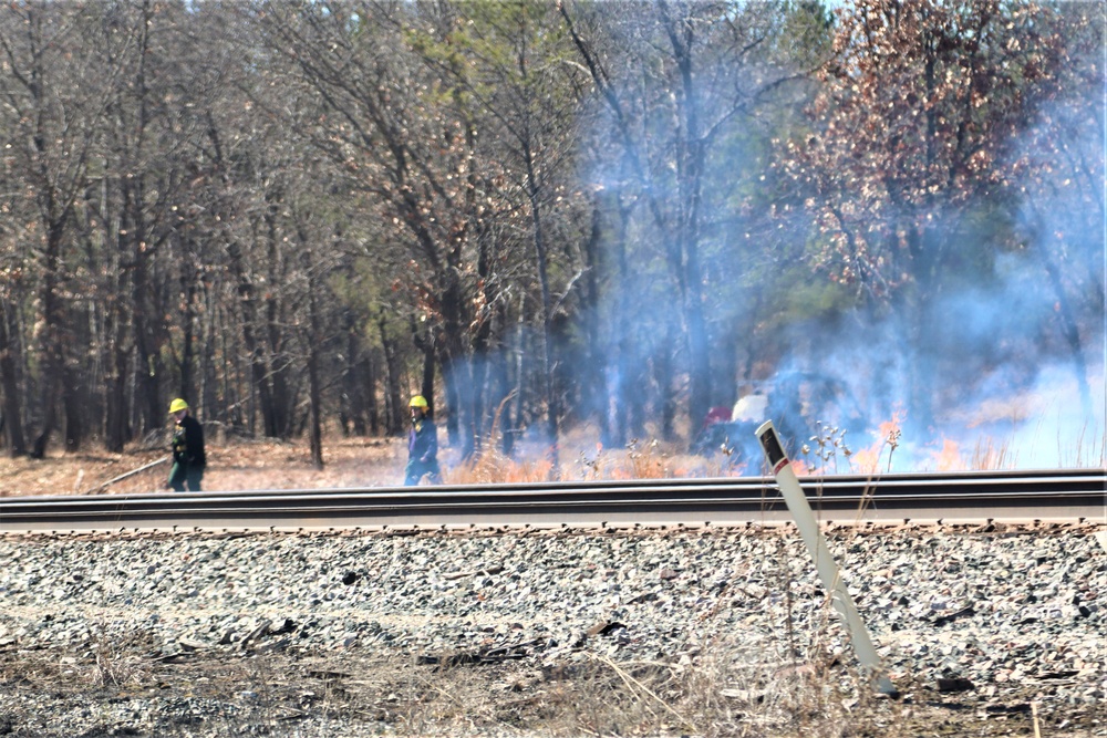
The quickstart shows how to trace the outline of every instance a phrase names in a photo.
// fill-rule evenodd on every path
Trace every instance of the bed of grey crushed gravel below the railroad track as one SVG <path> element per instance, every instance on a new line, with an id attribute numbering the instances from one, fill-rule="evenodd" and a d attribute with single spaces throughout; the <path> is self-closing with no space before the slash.
<path id="1" fill-rule="evenodd" d="M 572 735 L 549 700 L 584 665 L 715 675 L 722 721 L 685 707 L 638 735 L 789 735 L 758 732 L 757 706 L 806 669 L 845 695 L 814 713 L 858 716 L 818 735 L 1107 736 L 1104 530 L 827 529 L 896 700 L 857 688 L 790 527 L 8 536 L 0 736 Z M 448 671 L 515 711 L 412 721 L 431 698 L 374 664 L 408 685 Z M 545 717 L 521 707 L 542 700 Z"/>

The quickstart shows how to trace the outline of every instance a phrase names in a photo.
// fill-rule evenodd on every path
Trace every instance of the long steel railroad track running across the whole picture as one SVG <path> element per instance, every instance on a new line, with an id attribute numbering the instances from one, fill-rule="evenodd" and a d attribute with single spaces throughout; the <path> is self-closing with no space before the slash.
<path id="1" fill-rule="evenodd" d="M 1107 523 L 1107 470 L 804 477 L 824 521 Z M 0 533 L 780 523 L 773 478 L 0 498 Z"/>

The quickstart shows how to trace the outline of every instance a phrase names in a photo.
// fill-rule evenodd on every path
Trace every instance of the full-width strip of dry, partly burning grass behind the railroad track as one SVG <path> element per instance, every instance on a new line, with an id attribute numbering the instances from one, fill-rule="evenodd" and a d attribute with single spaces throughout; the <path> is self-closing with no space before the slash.
<path id="1" fill-rule="evenodd" d="M 850 448 L 857 439 L 845 438 L 837 428 L 820 426 L 818 434 L 793 455 L 794 468 L 800 476 L 887 470 L 901 443 L 898 418 L 883 424 L 880 432 L 877 441 L 858 449 Z M 1089 437 L 1089 450 L 1076 449 L 1078 467 L 1097 457 L 1103 464 L 1100 438 L 1096 434 Z M 304 441 L 227 439 L 213 434 L 207 453 L 205 489 L 259 490 L 399 486 L 407 449 L 403 438 L 330 437 L 323 444 L 324 466 L 317 469 Z M 634 439 L 627 448 L 603 448 L 588 428 L 566 434 L 559 445 L 557 468 L 549 447 L 534 443 L 520 444 L 513 458 L 500 454 L 496 444 L 486 443 L 477 455 L 462 461 L 457 449 L 442 438 L 439 457 L 443 480 L 457 485 L 717 478 L 746 471 L 744 464 L 723 454 L 711 458 L 691 455 L 683 443 Z M 167 460 L 161 444 L 133 446 L 123 454 L 55 450 L 44 459 L 0 457 L 0 497 L 161 491 L 169 471 Z M 1007 443 L 985 438 L 972 449 L 946 440 L 932 461 L 937 470 L 996 470 L 1013 468 L 1015 459 Z"/>

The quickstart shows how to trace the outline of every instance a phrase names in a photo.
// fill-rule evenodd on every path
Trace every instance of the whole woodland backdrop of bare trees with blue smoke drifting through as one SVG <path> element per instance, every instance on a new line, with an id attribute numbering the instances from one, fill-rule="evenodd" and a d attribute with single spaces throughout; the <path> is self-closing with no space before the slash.
<path id="1" fill-rule="evenodd" d="M 4 3 L 0 443 L 182 396 L 321 466 L 421 392 L 556 458 L 817 372 L 920 443 L 1061 383 L 1101 445 L 1105 8 Z"/>

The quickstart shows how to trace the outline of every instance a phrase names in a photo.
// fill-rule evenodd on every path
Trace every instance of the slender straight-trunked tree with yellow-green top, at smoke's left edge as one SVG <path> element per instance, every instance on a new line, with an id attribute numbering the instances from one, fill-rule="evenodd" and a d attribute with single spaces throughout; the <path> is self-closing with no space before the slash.
<path id="1" fill-rule="evenodd" d="M 577 218 L 572 215 L 581 208 L 569 175 L 576 150 L 575 121 L 590 80 L 579 65 L 567 63 L 572 46 L 566 35 L 548 31 L 557 28 L 552 8 L 479 2 L 466 10 L 466 23 L 447 27 L 446 32 L 418 43 L 455 98 L 472 101 L 485 121 L 482 127 L 492 133 L 482 137 L 486 141 L 479 150 L 486 160 L 505 166 L 508 186 L 500 197 L 506 199 L 503 211 L 509 215 L 504 225 L 519 228 L 515 214 L 526 214 L 539 287 L 546 437 L 556 468 L 563 389 L 556 382 L 555 314 L 575 282 L 575 266 L 571 258 L 560 256 L 571 250 L 560 251 L 552 245 L 555 236 L 558 242 L 571 242 L 588 232 L 573 226 Z M 513 197 L 516 190 L 523 201 Z M 561 276 L 557 282 L 551 272 Z M 485 270 L 482 276 L 503 278 Z M 555 290 L 562 294 L 558 297 Z M 495 397 L 494 405 L 505 397 Z"/>

